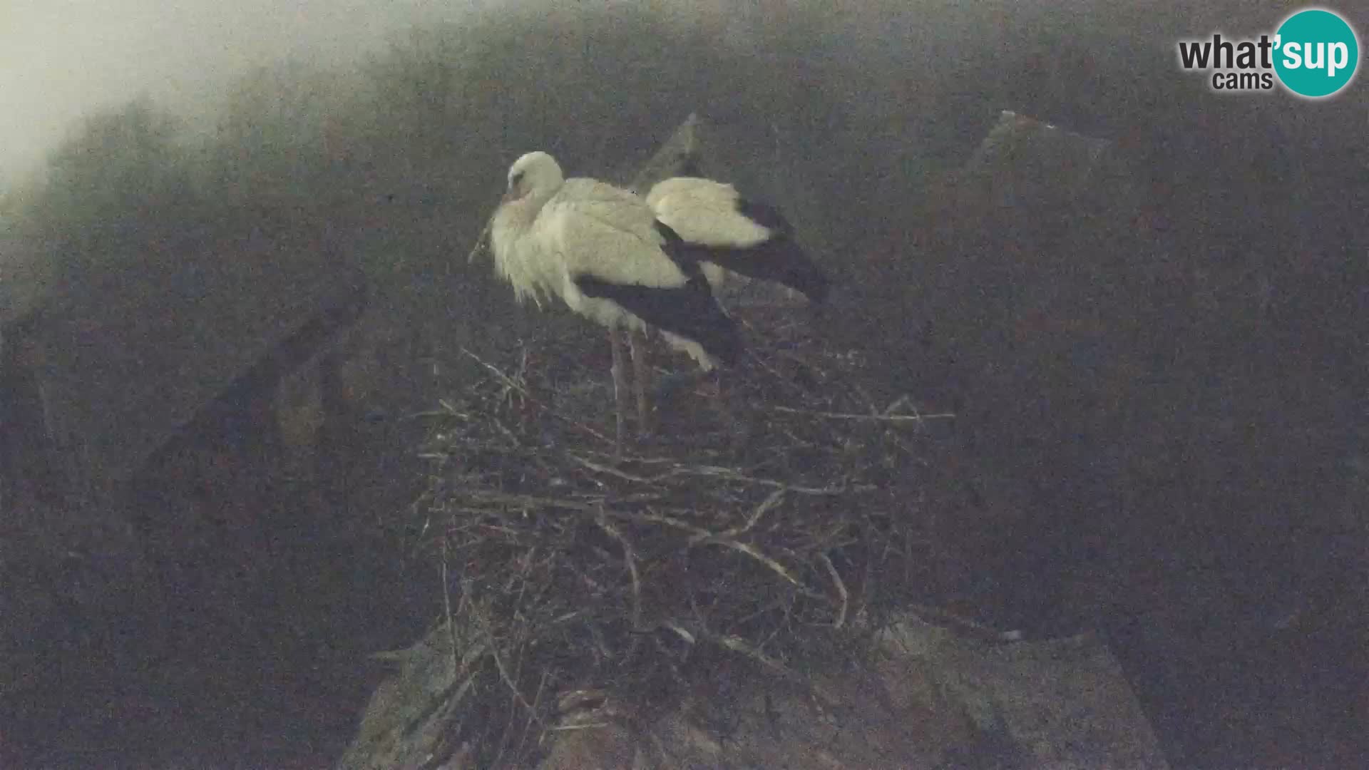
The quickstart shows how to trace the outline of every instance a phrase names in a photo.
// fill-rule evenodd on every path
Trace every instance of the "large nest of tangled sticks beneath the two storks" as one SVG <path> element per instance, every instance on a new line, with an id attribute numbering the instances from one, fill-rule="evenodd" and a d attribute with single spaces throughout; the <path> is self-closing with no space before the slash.
<path id="1" fill-rule="evenodd" d="M 861 356 L 802 315 L 739 311 L 726 408 L 678 393 L 620 462 L 601 330 L 567 318 L 500 360 L 467 353 L 476 382 L 430 415 L 419 514 L 459 658 L 449 740 L 475 766 L 527 766 L 601 695 L 648 725 L 724 662 L 786 681 L 847 662 L 921 595 L 920 445 L 947 415 L 875 403 Z"/>

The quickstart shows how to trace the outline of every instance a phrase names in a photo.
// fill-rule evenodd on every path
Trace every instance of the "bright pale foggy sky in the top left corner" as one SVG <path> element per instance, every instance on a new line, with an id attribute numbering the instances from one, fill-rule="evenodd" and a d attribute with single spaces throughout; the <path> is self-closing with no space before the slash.
<path id="1" fill-rule="evenodd" d="M 7 3 L 0 11 L 0 179 L 37 170 L 84 114 L 146 95 L 197 116 L 245 71 L 286 59 L 355 63 L 412 25 L 476 1 Z"/>

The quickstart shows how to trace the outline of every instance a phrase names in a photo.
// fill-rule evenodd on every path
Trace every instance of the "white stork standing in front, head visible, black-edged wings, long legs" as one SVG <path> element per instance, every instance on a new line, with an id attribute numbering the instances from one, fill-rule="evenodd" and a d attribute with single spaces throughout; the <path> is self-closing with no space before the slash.
<path id="1" fill-rule="evenodd" d="M 531 297 L 541 307 L 543 297 L 557 296 L 609 329 L 619 451 L 627 397 L 620 329 L 654 326 L 705 371 L 732 364 L 741 353 L 737 325 L 713 299 L 698 260 L 646 201 L 597 179 L 565 179 L 546 152 L 523 155 L 509 167 L 490 245 L 519 301 Z M 645 432 L 645 371 L 635 374 Z"/>

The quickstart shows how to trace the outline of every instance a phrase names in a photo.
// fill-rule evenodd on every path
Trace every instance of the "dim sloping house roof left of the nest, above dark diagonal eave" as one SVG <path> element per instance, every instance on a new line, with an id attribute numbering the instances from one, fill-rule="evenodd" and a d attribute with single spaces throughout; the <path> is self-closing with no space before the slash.
<path id="1" fill-rule="evenodd" d="M 363 288 L 319 241 L 255 234 L 164 245 L 53 293 L 22 334 L 70 470 L 90 488 L 127 477 L 256 362 Z"/>

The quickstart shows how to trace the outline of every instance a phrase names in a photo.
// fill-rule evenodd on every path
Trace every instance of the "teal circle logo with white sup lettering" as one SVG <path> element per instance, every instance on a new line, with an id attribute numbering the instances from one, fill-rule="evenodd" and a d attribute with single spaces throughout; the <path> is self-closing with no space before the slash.
<path id="1" fill-rule="evenodd" d="M 1359 69 L 1359 38 L 1331 11 L 1298 11 L 1276 34 L 1275 73 L 1298 96 L 1331 96 L 1350 85 Z"/>

